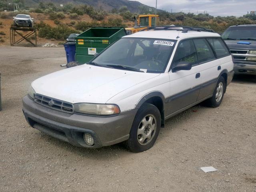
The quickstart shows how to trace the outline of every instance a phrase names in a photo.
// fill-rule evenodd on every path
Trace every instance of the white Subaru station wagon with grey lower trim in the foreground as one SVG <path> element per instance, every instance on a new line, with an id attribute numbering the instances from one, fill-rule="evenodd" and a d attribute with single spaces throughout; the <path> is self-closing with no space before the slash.
<path id="1" fill-rule="evenodd" d="M 73 145 L 125 142 L 142 152 L 166 119 L 204 100 L 218 107 L 233 66 L 217 33 L 150 28 L 124 36 L 87 64 L 38 78 L 23 112 L 33 128 Z"/>

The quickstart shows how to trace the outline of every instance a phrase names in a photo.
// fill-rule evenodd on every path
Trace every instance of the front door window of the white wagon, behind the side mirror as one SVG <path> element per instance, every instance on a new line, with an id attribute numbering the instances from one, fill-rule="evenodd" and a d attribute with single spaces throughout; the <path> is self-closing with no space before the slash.
<path id="1" fill-rule="evenodd" d="M 196 49 L 192 40 L 182 41 L 174 56 L 174 65 L 178 62 L 190 62 L 192 65 L 197 63 Z"/>

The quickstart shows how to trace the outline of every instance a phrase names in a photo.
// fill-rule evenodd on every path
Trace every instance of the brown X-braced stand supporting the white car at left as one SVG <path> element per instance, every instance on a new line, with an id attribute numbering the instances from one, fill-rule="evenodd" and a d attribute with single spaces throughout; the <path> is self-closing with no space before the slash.
<path id="1" fill-rule="evenodd" d="M 23 35 L 19 31 L 30 31 L 30 32 L 26 35 Z M 16 40 L 16 38 L 17 38 L 17 37 L 15 37 L 16 34 L 18 34 L 18 36 L 20 37 L 18 40 Z M 35 42 L 32 42 L 31 40 L 28 39 L 28 37 L 30 37 L 32 34 L 35 34 Z M 10 44 L 11 44 L 11 46 L 19 44 L 23 40 L 26 40 L 27 42 L 32 44 L 34 47 L 36 47 L 37 46 L 36 28 L 32 28 L 32 27 L 30 27 L 30 28 L 26 27 L 25 28 L 25 27 L 11 26 L 10 27 Z"/>

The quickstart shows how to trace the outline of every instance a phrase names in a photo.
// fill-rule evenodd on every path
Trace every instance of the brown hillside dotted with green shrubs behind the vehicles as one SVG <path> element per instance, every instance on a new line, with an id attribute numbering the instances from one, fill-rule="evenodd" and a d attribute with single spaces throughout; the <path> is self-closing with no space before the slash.
<path id="1" fill-rule="evenodd" d="M 40 3 L 38 0 L 26 0 L 26 3 L 30 1 L 34 5 L 34 8 L 30 8 L 29 12 L 1 12 L 1 9 L 4 10 L 1 7 L 1 2 L 3 1 L 6 0 L 0 0 L 0 44 L 8 44 L 10 42 L 8 34 L 10 25 L 13 23 L 12 17 L 18 13 L 30 14 L 35 19 L 34 26 L 38 30 L 38 40 L 40 42 L 64 42 L 70 33 L 80 33 L 90 27 L 131 27 L 134 25 L 134 15 L 138 14 L 138 12 L 129 11 L 128 6 L 124 3 L 140 4 L 139 2 L 128 0 L 117 1 L 120 4 L 114 4 L 114 0 L 68 0 L 68 2 L 76 2 L 76 4 L 67 3 L 64 7 L 57 7 L 58 2 L 67 2 L 67 0 L 53 0 L 56 4 L 53 4 L 53 1 Z M 78 2 L 89 2 L 94 6 L 97 4 L 99 7 L 94 8 L 94 6 L 79 4 Z M 114 8 L 111 4 L 116 7 L 120 6 L 120 8 Z M 104 9 L 100 7 L 104 7 Z M 106 8 L 111 11 L 107 11 Z M 132 8 L 132 6 L 129 5 L 129 8 Z M 138 6 L 138 8 L 140 14 L 150 14 L 147 8 L 141 6 Z M 213 29 L 218 33 L 224 32 L 231 25 L 256 22 L 256 18 L 250 14 L 239 18 L 235 16 L 214 17 L 209 14 L 169 13 L 165 11 L 158 11 L 157 14 L 160 15 L 160 25 L 202 26 Z"/>

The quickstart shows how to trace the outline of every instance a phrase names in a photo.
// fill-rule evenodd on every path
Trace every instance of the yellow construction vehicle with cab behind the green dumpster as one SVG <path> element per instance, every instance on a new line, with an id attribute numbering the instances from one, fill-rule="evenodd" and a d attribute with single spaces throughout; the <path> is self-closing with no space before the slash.
<path id="1" fill-rule="evenodd" d="M 159 15 L 140 15 L 137 18 L 134 16 L 135 24 L 134 27 L 125 28 L 128 35 L 139 32 L 142 29 L 148 27 L 158 26 L 159 24 Z"/>

